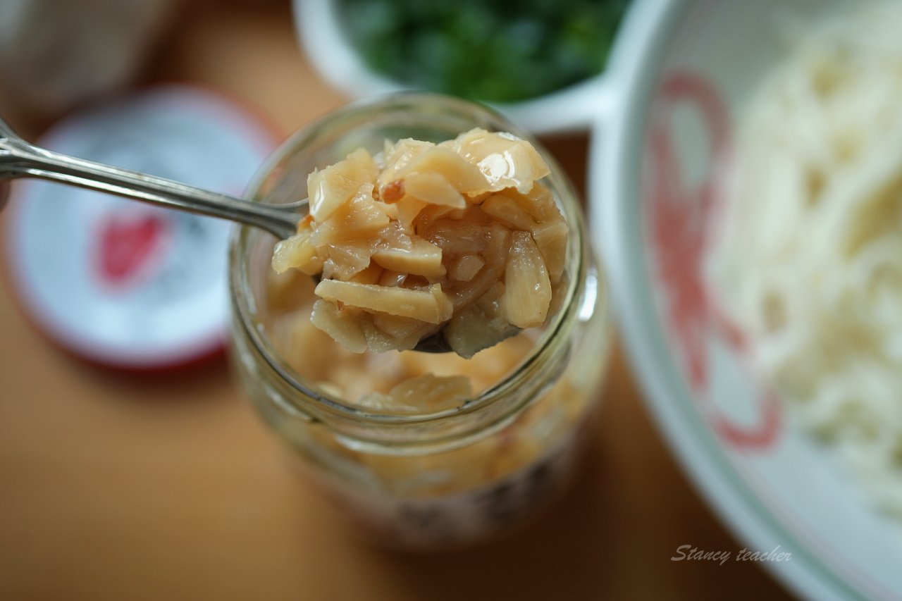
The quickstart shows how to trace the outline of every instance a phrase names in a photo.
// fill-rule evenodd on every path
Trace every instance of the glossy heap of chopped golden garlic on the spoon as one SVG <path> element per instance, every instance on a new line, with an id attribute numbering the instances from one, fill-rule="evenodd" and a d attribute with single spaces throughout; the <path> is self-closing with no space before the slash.
<path id="1" fill-rule="evenodd" d="M 348 350 L 408 350 L 444 329 L 474 356 L 553 306 L 567 226 L 548 171 L 530 143 L 480 128 L 358 149 L 310 174 L 310 214 L 272 266 L 321 278 L 313 323 Z"/>

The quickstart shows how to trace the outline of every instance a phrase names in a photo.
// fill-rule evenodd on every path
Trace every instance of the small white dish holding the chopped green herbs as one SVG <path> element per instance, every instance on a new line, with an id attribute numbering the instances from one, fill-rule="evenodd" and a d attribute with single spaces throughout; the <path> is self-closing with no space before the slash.
<path id="1" fill-rule="evenodd" d="M 333 0 L 294 0 L 294 15 L 304 51 L 333 87 L 354 98 L 410 89 L 364 64 L 346 39 Z M 608 114 L 612 96 L 610 82 L 601 74 L 544 96 L 493 106 L 533 134 L 551 134 L 588 129 Z"/>

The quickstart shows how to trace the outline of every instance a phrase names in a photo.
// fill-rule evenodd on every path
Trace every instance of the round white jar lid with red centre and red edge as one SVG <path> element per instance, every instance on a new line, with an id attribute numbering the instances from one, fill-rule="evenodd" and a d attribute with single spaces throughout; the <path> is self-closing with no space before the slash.
<path id="1" fill-rule="evenodd" d="M 40 145 L 240 196 L 275 136 L 222 96 L 166 86 L 70 116 Z M 62 347 L 133 370 L 222 350 L 229 222 L 40 180 L 14 191 L 14 282 Z"/>

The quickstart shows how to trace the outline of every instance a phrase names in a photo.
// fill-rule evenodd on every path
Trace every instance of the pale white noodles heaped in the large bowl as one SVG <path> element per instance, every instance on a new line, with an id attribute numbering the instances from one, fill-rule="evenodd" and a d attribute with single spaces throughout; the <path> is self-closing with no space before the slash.
<path id="1" fill-rule="evenodd" d="M 902 517 L 902 3 L 797 43 L 741 116 L 709 275 L 797 421 Z"/>

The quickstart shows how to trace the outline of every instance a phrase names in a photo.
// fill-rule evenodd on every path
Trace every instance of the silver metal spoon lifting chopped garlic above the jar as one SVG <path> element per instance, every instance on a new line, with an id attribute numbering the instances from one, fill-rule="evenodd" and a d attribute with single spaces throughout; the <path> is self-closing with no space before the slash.
<path id="1" fill-rule="evenodd" d="M 25 142 L 0 119 L 0 189 L 5 186 L 4 180 L 25 177 L 57 181 L 162 207 L 238 221 L 247 226 L 260 227 L 280 240 L 297 233 L 298 222 L 307 214 L 308 206 L 307 199 L 281 205 L 236 199 L 155 175 L 54 153 Z M 0 190 L 0 209 L 5 204 L 3 192 Z M 414 350 L 446 353 L 451 348 L 440 329 L 421 339 Z"/>

